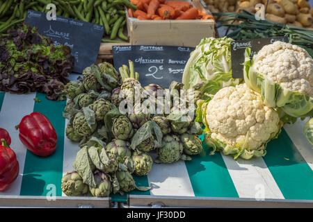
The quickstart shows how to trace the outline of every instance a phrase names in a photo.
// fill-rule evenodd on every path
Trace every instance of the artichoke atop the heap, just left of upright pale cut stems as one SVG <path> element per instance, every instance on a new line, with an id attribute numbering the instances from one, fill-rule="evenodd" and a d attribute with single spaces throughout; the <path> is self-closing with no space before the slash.
<path id="1" fill-rule="evenodd" d="M 102 62 L 98 65 L 99 71 L 102 74 L 102 82 L 106 82 L 112 88 L 118 87 L 120 85 L 121 79 L 118 71 L 109 62 Z"/>

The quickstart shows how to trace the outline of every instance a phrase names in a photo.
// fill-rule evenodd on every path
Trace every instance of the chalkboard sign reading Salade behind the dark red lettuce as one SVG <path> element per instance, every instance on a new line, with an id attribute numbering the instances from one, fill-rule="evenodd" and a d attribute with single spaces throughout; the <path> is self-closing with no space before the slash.
<path id="1" fill-rule="evenodd" d="M 38 27 L 38 33 L 51 37 L 55 45 L 70 46 L 75 58 L 74 72 L 82 73 L 83 69 L 97 60 L 104 26 L 56 16 L 48 21 L 46 13 L 28 10 L 25 22 Z"/>

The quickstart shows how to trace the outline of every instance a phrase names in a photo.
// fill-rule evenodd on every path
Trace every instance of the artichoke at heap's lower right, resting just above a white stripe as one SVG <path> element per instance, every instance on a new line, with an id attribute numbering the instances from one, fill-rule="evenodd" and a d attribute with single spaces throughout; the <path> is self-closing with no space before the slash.
<path id="1" fill-rule="evenodd" d="M 183 145 L 177 135 L 165 135 L 162 138 L 161 148 L 158 149 L 158 161 L 172 163 L 180 159 L 183 152 Z"/>

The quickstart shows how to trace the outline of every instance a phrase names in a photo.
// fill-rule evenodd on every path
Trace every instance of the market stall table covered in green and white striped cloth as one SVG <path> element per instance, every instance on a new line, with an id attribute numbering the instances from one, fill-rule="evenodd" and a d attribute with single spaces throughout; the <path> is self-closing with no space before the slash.
<path id="1" fill-rule="evenodd" d="M 65 137 L 65 105 L 66 101 L 47 100 L 45 94 L 0 92 L 1 128 L 10 133 L 20 167 L 17 180 L 0 193 L 0 206 L 313 206 L 312 145 L 303 135 L 304 121 L 300 120 L 284 126 L 278 139 L 268 143 L 264 157 L 233 160 L 220 153 L 209 155 L 211 148 L 204 145 L 206 152 L 190 162 L 153 164 L 148 176 L 136 176 L 137 185 L 152 185 L 150 191 L 131 191 L 109 198 L 67 197 L 62 193 L 61 178 L 73 170 L 79 146 Z M 33 111 L 45 114 L 56 129 L 56 153 L 50 157 L 33 155 L 18 138 L 15 126 Z"/>

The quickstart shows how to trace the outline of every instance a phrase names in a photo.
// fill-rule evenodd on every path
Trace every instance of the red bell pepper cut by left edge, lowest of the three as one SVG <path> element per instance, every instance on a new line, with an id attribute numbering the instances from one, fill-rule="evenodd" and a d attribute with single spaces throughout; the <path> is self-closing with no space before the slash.
<path id="1" fill-rule="evenodd" d="M 19 162 L 15 152 L 10 149 L 4 139 L 0 145 L 0 191 L 10 187 L 19 174 Z"/>

